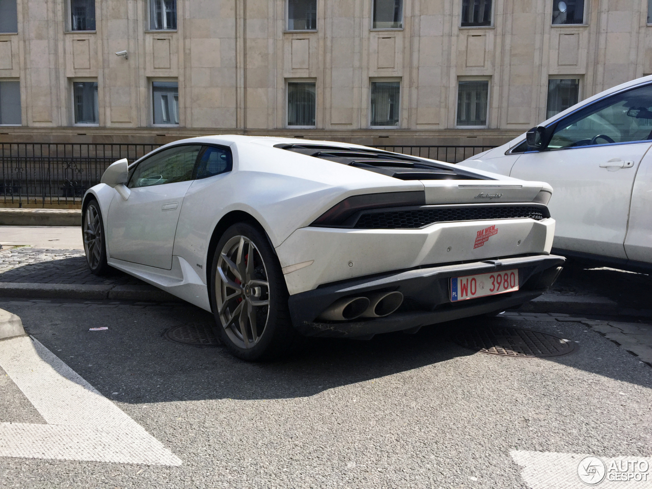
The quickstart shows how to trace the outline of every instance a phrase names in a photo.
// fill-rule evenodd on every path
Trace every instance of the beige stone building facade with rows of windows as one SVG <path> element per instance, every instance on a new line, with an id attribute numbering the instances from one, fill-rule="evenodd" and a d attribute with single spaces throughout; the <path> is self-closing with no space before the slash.
<path id="1" fill-rule="evenodd" d="M 651 74 L 648 4 L 0 0 L 0 141 L 499 144 Z"/>

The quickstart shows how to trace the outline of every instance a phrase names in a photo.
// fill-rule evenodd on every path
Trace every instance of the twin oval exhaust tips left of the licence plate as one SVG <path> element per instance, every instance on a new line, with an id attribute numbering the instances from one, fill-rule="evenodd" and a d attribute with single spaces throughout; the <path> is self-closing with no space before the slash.
<path id="1" fill-rule="evenodd" d="M 382 318 L 403 303 L 400 292 L 374 292 L 361 297 L 342 297 L 319 315 L 322 321 L 351 321 L 356 318 Z"/>

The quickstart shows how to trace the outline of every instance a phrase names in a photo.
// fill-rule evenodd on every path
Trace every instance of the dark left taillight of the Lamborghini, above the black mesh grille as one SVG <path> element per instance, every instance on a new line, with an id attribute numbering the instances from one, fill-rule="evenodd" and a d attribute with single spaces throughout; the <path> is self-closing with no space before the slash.
<path id="1" fill-rule="evenodd" d="M 323 213 L 313 226 L 342 226 L 346 220 L 359 211 L 402 205 L 425 205 L 426 192 L 384 192 L 383 194 L 355 195 L 344 199 Z"/>

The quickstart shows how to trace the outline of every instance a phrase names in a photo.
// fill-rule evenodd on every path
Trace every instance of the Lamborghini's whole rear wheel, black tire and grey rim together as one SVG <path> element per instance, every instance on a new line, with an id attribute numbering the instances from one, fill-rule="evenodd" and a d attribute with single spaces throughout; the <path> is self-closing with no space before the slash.
<path id="1" fill-rule="evenodd" d="M 272 360 L 296 348 L 300 336 L 291 325 L 288 297 L 264 231 L 248 222 L 228 228 L 213 257 L 211 303 L 216 333 L 233 355 L 246 361 Z"/>

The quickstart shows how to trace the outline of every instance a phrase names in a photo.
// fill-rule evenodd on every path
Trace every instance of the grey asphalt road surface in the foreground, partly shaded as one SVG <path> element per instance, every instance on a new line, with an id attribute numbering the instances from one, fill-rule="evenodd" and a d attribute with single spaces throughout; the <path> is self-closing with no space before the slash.
<path id="1" fill-rule="evenodd" d="M 514 451 L 634 457 L 652 448 L 652 369 L 580 323 L 481 320 L 574 342 L 548 359 L 448 339 L 474 320 L 368 342 L 314 340 L 286 361 L 248 364 L 164 338 L 212 321 L 192 306 L 0 307 L 183 462 L 0 457 L 2 488 L 524 488 L 534 486 Z M 0 422 L 44 422 L 2 370 Z"/>

